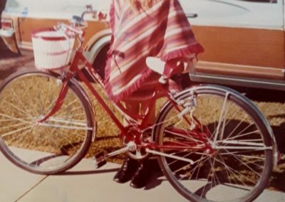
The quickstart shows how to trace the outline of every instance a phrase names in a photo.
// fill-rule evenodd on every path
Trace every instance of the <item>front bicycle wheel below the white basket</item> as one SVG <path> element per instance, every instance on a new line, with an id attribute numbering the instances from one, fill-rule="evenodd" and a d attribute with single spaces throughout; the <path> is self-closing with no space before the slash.
<path id="1" fill-rule="evenodd" d="M 93 117 L 86 95 L 75 82 L 61 109 L 44 122 L 61 90 L 50 73 L 16 73 L 0 87 L 0 146 L 16 166 L 36 174 L 70 169 L 90 146 Z"/>

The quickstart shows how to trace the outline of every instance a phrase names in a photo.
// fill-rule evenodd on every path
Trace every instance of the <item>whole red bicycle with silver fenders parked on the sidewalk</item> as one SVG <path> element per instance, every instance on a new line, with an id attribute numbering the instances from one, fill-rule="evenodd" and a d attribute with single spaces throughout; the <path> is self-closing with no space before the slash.
<path id="1" fill-rule="evenodd" d="M 148 113 L 133 115 L 122 103 L 113 103 L 129 120 L 125 127 L 98 93 L 104 85 L 83 56 L 83 31 L 63 24 L 57 28 L 81 42 L 68 68 L 14 73 L 1 83 L 0 148 L 16 166 L 58 174 L 86 156 L 96 141 L 97 123 L 85 84 L 120 129 L 123 142 L 121 149 L 95 154 L 98 166 L 125 152 L 134 159 L 154 154 L 167 180 L 190 201 L 253 201 L 264 190 L 275 142 L 269 123 L 247 97 L 218 85 L 170 92 L 161 75 L 149 103 L 151 110 L 158 95 L 164 96 L 155 124 L 147 124 Z"/>

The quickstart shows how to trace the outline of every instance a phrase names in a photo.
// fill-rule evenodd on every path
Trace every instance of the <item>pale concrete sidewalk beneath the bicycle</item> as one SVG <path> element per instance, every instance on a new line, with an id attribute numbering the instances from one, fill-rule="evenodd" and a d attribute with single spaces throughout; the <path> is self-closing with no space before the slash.
<path id="1" fill-rule="evenodd" d="M 94 169 L 91 159 L 83 159 L 65 174 L 30 174 L 11 164 L 0 154 L 0 201 L 10 202 L 93 202 L 93 201 L 186 201 L 163 176 L 152 176 L 145 188 L 131 188 L 113 181 L 118 164 Z M 226 194 L 226 193 L 224 193 Z M 282 202 L 285 193 L 264 191 L 256 201 Z"/>

